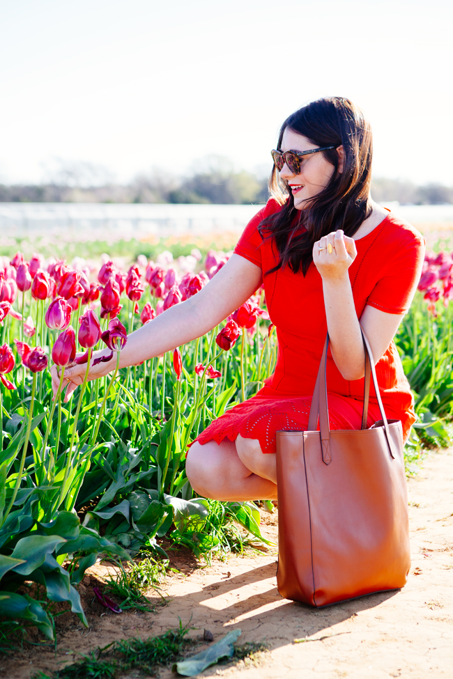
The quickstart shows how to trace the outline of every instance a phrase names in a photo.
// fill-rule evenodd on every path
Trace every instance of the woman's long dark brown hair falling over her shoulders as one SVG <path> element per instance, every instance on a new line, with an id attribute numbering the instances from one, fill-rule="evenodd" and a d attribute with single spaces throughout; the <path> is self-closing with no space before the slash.
<path id="1" fill-rule="evenodd" d="M 282 148 L 286 128 L 307 137 L 314 146 L 344 148 L 344 166 L 338 172 L 336 148 L 320 151 L 333 165 L 328 185 L 307 201 L 303 210 L 296 210 L 294 198 L 286 182 L 274 166 L 269 180 L 270 194 L 283 205 L 282 210 L 266 217 L 259 225 L 263 237 L 273 238 L 279 262 L 270 272 L 289 265 L 297 273 L 307 273 L 312 263 L 314 243 L 323 235 L 341 228 L 352 236 L 371 213 L 369 186 L 373 140 L 371 127 L 360 109 L 344 97 L 325 97 L 307 104 L 286 118 L 279 133 L 277 148 Z M 298 219 L 295 219 L 298 216 Z M 294 235 L 298 226 L 307 229 Z M 268 272 L 268 273 L 270 273 Z"/>

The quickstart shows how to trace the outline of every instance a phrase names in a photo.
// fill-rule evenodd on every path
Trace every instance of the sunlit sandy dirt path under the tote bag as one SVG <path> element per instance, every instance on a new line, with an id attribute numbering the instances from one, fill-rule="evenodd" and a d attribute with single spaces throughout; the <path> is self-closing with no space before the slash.
<path id="1" fill-rule="evenodd" d="M 68 616 L 66 624 L 59 623 L 56 655 L 48 647 L 25 645 L 20 657 L 0 660 L 0 676 L 28 679 L 39 669 L 61 668 L 77 660 L 78 653 L 114 639 L 161 634 L 177 627 L 181 618 L 193 627 L 193 637 L 206 629 L 217 640 L 240 628 L 238 643 L 265 642 L 270 649 L 259 662 L 213 666 L 204 677 L 244 673 L 248 679 L 452 679 L 453 451 L 430 453 L 408 486 L 413 561 L 401 591 L 310 609 L 279 596 L 275 550 L 231 556 L 208 568 L 199 568 L 180 553 L 173 565 L 181 575 L 169 577 L 164 585 L 166 606 L 153 613 L 115 615 L 94 600 L 95 579 L 86 579 L 82 597 L 89 629 Z M 276 516 L 265 515 L 263 520 L 266 534 L 276 538 Z M 92 576 L 103 575 L 102 568 L 93 567 Z M 155 594 L 150 599 L 159 601 Z M 161 679 L 174 677 L 169 669 L 160 673 Z"/>

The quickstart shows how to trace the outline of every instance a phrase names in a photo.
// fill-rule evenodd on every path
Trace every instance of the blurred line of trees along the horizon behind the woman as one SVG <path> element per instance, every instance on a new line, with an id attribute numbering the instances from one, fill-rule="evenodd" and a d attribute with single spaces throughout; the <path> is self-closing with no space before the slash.
<path id="1" fill-rule="evenodd" d="M 200 166 L 200 164 L 198 164 Z M 375 201 L 402 205 L 453 203 L 453 187 L 438 183 L 417 185 L 408 180 L 375 178 Z M 249 171 L 236 171 L 227 159 L 208 157 L 186 177 L 161 171 L 137 175 L 118 184 L 107 171 L 89 163 L 62 164 L 47 181 L 36 185 L 0 184 L 2 203 L 266 203 L 268 179 Z"/>

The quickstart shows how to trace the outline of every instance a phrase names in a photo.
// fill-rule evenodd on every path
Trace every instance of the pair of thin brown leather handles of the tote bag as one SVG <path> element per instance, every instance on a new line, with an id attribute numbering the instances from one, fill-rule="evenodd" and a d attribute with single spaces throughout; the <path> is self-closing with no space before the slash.
<path id="1" fill-rule="evenodd" d="M 383 420 L 383 426 L 385 429 L 385 438 L 387 439 L 387 446 L 394 458 L 394 453 L 392 451 L 392 439 L 390 437 L 390 430 L 388 427 L 387 417 L 385 416 L 385 410 L 383 407 L 381 393 L 379 392 L 378 379 L 376 377 L 376 368 L 374 366 L 373 354 L 371 352 L 371 347 L 367 336 L 364 334 L 362 326 L 360 326 L 360 331 L 362 332 L 363 348 L 365 353 L 365 375 L 364 375 L 364 399 L 363 399 L 363 412 L 362 412 L 362 429 L 367 428 L 367 416 L 368 416 L 368 403 L 369 403 L 369 387 L 371 384 L 371 377 L 373 379 L 374 391 L 376 392 L 376 398 L 378 401 L 379 410 L 381 411 L 381 417 Z M 318 375 L 316 377 L 316 384 L 314 386 L 312 406 L 310 407 L 309 421 L 308 421 L 308 431 L 316 431 L 318 425 L 319 417 L 319 429 L 321 435 L 321 450 L 323 452 L 323 462 L 326 465 L 330 464 L 332 461 L 332 455 L 330 451 L 330 423 L 329 423 L 329 410 L 328 410 L 328 398 L 327 398 L 327 381 L 326 381 L 326 368 L 327 368 L 327 352 L 329 346 L 329 334 L 325 338 L 323 354 L 321 357 L 321 363 L 319 364 Z"/>

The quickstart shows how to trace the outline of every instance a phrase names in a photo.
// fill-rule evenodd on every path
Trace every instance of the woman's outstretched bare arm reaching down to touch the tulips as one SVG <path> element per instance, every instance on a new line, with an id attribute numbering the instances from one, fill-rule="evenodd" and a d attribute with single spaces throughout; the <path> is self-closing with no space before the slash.
<path id="1" fill-rule="evenodd" d="M 240 255 L 233 254 L 197 295 L 172 306 L 128 335 L 128 341 L 121 351 L 120 367 L 137 365 L 201 337 L 244 304 L 260 283 L 261 268 Z M 93 352 L 93 360 L 109 353 L 107 349 Z M 89 380 L 107 375 L 115 366 L 116 356 L 106 363 L 91 366 Z M 65 377 L 70 381 L 66 389 L 66 400 L 71 391 L 82 384 L 85 370 L 86 365 L 66 368 Z M 58 385 L 59 376 L 56 366 L 53 366 L 54 392 Z"/>

